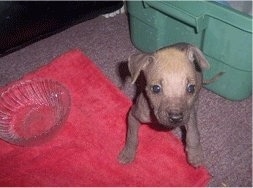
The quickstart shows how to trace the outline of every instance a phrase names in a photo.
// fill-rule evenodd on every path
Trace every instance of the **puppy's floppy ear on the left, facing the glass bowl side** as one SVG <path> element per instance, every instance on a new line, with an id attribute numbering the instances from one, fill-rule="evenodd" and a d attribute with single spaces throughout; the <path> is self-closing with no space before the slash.
<path id="1" fill-rule="evenodd" d="M 128 69 L 131 74 L 132 84 L 135 83 L 140 72 L 154 61 L 155 57 L 151 54 L 133 54 L 128 58 Z"/>

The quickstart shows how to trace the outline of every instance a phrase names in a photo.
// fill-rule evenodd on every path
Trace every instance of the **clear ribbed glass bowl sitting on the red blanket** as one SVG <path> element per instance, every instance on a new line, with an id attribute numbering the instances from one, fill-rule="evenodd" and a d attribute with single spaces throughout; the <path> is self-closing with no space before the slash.
<path id="1" fill-rule="evenodd" d="M 1 93 L 0 138 L 22 146 L 45 141 L 64 124 L 70 103 L 69 91 L 57 81 L 20 81 Z"/>

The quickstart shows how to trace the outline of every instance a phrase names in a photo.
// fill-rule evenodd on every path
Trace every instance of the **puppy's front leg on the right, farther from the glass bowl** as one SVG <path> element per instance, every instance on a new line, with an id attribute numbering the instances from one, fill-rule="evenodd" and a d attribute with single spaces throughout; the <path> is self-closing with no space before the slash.
<path id="1" fill-rule="evenodd" d="M 196 110 L 193 107 L 188 124 L 186 125 L 186 151 L 188 162 L 198 167 L 203 162 L 200 135 L 197 127 Z"/>

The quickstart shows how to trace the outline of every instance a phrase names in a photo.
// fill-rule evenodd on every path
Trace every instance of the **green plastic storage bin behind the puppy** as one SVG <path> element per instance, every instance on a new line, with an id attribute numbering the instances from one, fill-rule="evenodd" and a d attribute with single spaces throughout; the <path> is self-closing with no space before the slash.
<path id="1" fill-rule="evenodd" d="M 252 16 L 210 1 L 129 1 L 131 40 L 143 52 L 177 42 L 198 46 L 211 68 L 225 72 L 205 87 L 230 100 L 252 94 Z"/>

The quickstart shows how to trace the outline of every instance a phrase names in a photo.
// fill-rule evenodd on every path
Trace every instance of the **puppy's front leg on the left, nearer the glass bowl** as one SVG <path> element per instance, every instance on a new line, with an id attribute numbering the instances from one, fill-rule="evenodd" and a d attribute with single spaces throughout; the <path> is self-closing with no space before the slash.
<path id="1" fill-rule="evenodd" d="M 140 122 L 133 116 L 133 109 L 131 109 L 128 114 L 126 144 L 118 157 L 119 162 L 122 164 L 130 163 L 135 158 L 135 153 L 138 146 L 139 127 Z"/>

